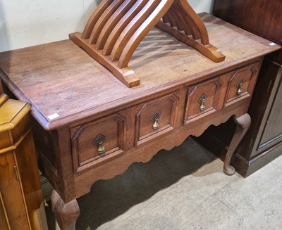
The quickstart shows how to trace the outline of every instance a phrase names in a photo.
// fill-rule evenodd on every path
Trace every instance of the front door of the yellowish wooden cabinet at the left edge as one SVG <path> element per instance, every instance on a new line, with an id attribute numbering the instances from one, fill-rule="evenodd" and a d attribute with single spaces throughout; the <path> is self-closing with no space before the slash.
<path id="1" fill-rule="evenodd" d="M 23 193 L 16 171 L 17 167 L 15 159 L 13 158 L 13 152 L 0 154 L 2 207 L 5 207 L 4 213 L 6 212 L 11 229 L 25 230 L 30 229 L 30 226 L 28 224 Z M 2 229 L 2 226 L 0 229 Z"/>

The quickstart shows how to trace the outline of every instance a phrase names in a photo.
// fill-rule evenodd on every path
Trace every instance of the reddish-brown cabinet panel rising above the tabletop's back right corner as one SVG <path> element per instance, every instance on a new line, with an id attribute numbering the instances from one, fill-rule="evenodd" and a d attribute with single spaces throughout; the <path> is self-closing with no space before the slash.
<path id="1" fill-rule="evenodd" d="M 213 14 L 260 37 L 282 44 L 281 11 L 281 0 L 215 0 Z"/>

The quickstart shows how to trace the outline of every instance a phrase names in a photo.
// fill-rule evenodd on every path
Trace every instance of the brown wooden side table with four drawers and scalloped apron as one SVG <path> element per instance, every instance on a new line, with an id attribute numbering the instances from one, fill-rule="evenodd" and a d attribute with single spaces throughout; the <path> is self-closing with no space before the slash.
<path id="1" fill-rule="evenodd" d="M 207 13 L 201 17 L 226 60 L 214 63 L 154 28 L 130 59 L 142 80 L 131 89 L 70 40 L 0 54 L 1 79 L 32 104 L 40 167 L 54 186 L 61 229 L 74 228 L 75 199 L 95 181 L 234 117 L 231 157 L 250 123 L 247 108 L 262 58 L 280 46 Z M 225 171 L 232 174 L 228 158 Z"/>

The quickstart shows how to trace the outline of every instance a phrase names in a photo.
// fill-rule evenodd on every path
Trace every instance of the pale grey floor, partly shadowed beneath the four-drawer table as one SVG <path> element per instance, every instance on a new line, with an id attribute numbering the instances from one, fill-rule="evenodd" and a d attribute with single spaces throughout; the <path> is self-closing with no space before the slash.
<path id="1" fill-rule="evenodd" d="M 247 179 L 188 139 L 146 164 L 97 181 L 78 199 L 77 230 L 282 229 L 282 158 Z M 50 207 L 49 230 L 56 229 Z M 58 228 L 57 228 L 58 229 Z"/>

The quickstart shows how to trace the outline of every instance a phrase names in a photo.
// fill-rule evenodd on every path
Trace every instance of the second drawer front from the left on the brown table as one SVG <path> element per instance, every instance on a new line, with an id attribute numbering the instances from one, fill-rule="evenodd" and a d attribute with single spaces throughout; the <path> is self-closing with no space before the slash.
<path id="1" fill-rule="evenodd" d="M 135 145 L 171 131 L 176 126 L 178 91 L 135 107 Z"/>

